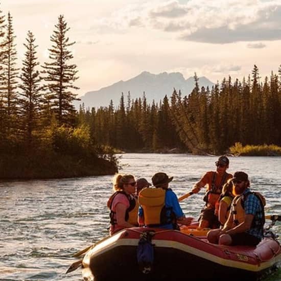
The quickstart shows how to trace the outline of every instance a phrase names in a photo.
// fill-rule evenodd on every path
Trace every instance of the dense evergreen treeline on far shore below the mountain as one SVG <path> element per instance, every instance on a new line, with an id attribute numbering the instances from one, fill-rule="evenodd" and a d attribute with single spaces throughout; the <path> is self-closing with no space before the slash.
<path id="1" fill-rule="evenodd" d="M 199 88 L 195 74 L 188 96 L 175 89 L 169 99 L 147 104 L 145 93 L 136 100 L 122 93 L 117 107 L 112 101 L 98 109 L 81 106 L 79 121 L 94 142 L 127 151 L 221 154 L 238 142 L 281 146 L 281 68 L 278 75 L 261 82 L 254 65 L 242 81 L 229 76 L 209 89 Z"/>

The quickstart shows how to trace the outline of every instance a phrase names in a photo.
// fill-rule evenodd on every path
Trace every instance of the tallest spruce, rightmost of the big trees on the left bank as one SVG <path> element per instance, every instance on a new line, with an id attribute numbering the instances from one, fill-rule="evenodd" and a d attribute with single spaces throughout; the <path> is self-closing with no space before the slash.
<path id="1" fill-rule="evenodd" d="M 42 66 L 44 80 L 48 82 L 44 85 L 47 90 L 46 100 L 49 101 L 59 125 L 74 126 L 76 110 L 73 101 L 77 100 L 77 94 L 70 89 L 79 89 L 74 85 L 78 79 L 76 76 L 78 70 L 77 65 L 68 63 L 73 58 L 68 48 L 75 42 L 69 43 L 66 36 L 69 28 L 63 15 L 58 17 L 55 28 L 51 36 L 53 45 L 49 49 L 49 58 L 52 62 L 45 62 Z"/>

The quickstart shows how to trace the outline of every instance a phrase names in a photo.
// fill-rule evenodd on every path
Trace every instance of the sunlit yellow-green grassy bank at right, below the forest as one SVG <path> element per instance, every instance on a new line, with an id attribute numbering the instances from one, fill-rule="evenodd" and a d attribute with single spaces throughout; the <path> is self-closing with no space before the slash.
<path id="1" fill-rule="evenodd" d="M 241 156 L 281 156 L 281 147 L 275 145 L 246 145 L 236 143 L 229 148 L 229 153 Z"/>

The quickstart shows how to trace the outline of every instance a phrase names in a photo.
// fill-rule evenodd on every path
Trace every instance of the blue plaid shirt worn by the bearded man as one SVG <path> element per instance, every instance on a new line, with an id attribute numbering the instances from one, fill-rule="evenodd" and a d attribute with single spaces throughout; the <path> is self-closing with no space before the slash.
<path id="1" fill-rule="evenodd" d="M 246 189 L 243 193 L 243 195 L 247 195 L 250 190 Z M 246 196 L 246 199 L 244 200 L 244 209 L 245 209 L 245 215 L 253 215 L 253 221 L 255 222 L 253 226 L 250 227 L 250 229 L 246 230 L 250 235 L 262 240 L 263 239 L 263 226 L 262 226 L 262 220 L 263 220 L 263 206 L 261 205 L 260 199 L 257 198 L 257 195 L 249 194 Z"/>

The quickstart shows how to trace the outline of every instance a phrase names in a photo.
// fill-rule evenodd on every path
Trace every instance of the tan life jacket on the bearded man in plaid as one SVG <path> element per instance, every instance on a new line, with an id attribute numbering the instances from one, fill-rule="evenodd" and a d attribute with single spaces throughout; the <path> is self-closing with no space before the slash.
<path id="1" fill-rule="evenodd" d="M 256 216 L 253 218 L 253 222 L 251 228 L 263 228 L 265 224 L 265 212 L 264 206 L 266 205 L 266 200 L 264 196 L 259 192 L 247 192 L 246 194 L 236 196 L 231 204 L 231 214 L 233 214 L 233 225 L 237 226 L 245 220 L 245 209 L 244 202 L 246 198 L 250 195 L 254 194 L 260 201 L 262 206 L 262 220 L 257 218 Z"/>

